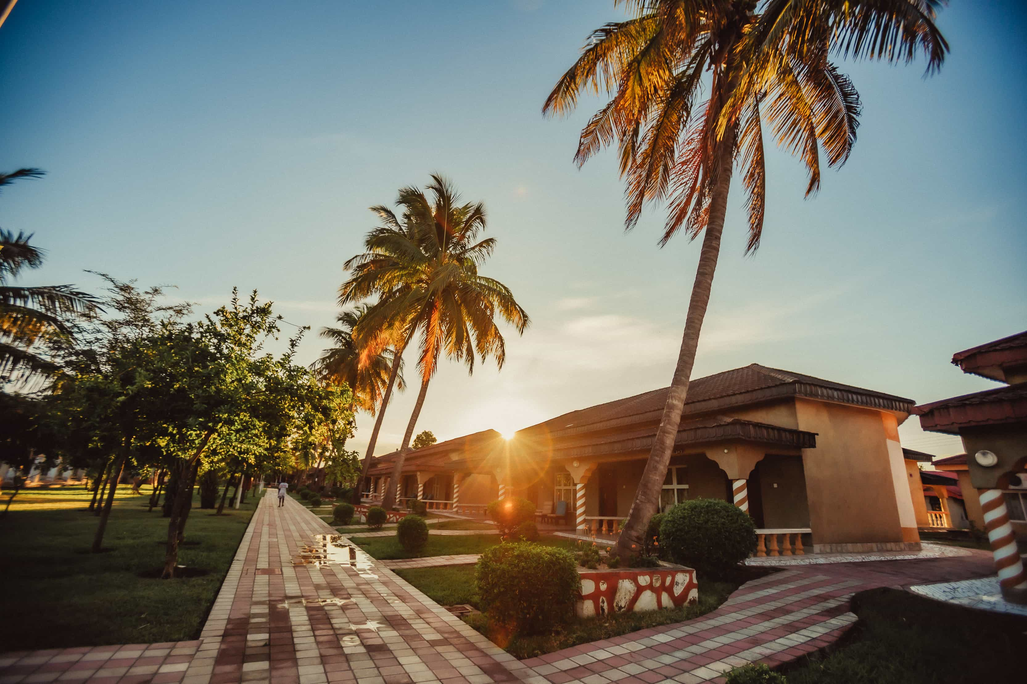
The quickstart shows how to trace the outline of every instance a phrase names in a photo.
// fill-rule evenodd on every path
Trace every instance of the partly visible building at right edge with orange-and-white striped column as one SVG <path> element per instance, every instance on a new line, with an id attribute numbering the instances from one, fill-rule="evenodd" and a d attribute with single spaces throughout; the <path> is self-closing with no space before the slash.
<path id="1" fill-rule="evenodd" d="M 957 474 L 961 471 L 955 467 L 965 466 L 969 486 L 963 491 L 976 490 L 973 505 L 964 493 L 967 515 L 974 520 L 980 507 L 1002 595 L 1027 603 L 1027 573 L 1016 539 L 1018 530 L 1024 533 L 1027 502 L 1022 487 L 1027 482 L 1027 331 L 957 352 L 952 363 L 1005 387 L 924 404 L 915 412 L 924 430 L 962 439 L 962 460 L 945 466 Z"/>

